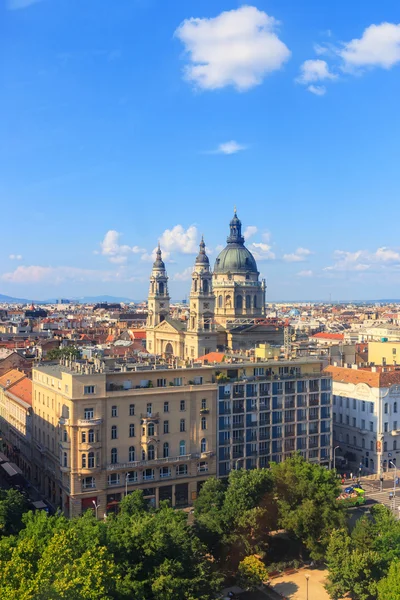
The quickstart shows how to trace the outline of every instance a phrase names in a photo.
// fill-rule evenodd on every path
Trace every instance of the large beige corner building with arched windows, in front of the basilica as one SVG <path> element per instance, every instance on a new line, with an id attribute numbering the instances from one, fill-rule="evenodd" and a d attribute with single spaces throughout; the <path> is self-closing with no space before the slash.
<path id="1" fill-rule="evenodd" d="M 216 474 L 212 368 L 33 370 L 34 481 L 68 516 L 98 516 L 141 489 L 155 506 L 193 502 Z"/>

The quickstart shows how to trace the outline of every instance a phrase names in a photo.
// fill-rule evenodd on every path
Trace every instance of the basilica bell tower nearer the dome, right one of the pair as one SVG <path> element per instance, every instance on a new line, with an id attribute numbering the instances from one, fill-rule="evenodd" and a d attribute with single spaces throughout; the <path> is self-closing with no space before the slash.
<path id="1" fill-rule="evenodd" d="M 189 321 L 185 339 L 185 357 L 198 358 L 217 347 L 214 325 L 215 297 L 212 290 L 212 272 L 201 238 L 200 251 L 196 257 L 192 288 L 189 297 Z"/>

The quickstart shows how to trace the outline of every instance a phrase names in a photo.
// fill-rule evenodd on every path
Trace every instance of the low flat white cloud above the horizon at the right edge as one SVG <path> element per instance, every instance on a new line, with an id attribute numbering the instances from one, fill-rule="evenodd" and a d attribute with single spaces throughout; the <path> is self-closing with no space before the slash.
<path id="1" fill-rule="evenodd" d="M 336 250 L 335 263 L 324 268 L 324 271 L 369 271 L 382 269 L 398 269 L 400 267 L 400 252 L 382 246 L 375 252 L 357 250 L 347 252 Z"/>

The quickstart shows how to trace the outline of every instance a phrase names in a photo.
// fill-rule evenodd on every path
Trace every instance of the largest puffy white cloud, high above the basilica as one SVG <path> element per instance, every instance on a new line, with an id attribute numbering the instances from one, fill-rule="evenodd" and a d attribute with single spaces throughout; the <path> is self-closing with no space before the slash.
<path id="1" fill-rule="evenodd" d="M 276 33 L 278 24 L 254 6 L 186 19 L 175 31 L 189 55 L 185 78 L 204 90 L 233 85 L 245 91 L 259 85 L 291 54 Z"/>

